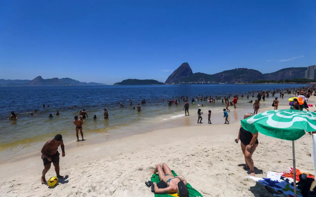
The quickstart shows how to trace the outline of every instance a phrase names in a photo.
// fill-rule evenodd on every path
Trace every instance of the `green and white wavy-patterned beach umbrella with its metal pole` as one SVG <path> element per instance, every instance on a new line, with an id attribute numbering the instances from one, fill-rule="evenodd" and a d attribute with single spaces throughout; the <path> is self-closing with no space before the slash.
<path id="1" fill-rule="evenodd" d="M 240 122 L 241 126 L 251 133 L 260 132 L 267 136 L 292 141 L 293 175 L 296 185 L 294 141 L 301 138 L 305 132 L 316 131 L 316 113 L 296 109 L 270 110 Z M 294 187 L 294 196 L 296 197 L 296 187 Z"/>

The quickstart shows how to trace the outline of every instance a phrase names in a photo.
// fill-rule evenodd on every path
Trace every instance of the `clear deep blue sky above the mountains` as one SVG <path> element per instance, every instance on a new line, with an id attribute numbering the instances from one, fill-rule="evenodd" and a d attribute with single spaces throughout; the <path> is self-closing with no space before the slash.
<path id="1" fill-rule="evenodd" d="M 315 0 L 12 0 L 0 6 L 0 78 L 164 82 L 316 64 Z"/>

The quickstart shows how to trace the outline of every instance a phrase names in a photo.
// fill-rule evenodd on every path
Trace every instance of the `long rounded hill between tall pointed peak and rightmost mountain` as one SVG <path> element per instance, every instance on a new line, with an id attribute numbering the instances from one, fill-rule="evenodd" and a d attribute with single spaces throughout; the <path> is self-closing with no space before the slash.
<path id="1" fill-rule="evenodd" d="M 240 83 L 264 79 L 261 72 L 248 68 L 235 68 L 216 74 L 205 74 L 201 72 L 193 73 L 190 77 L 182 79 L 183 82 L 212 81 L 217 83 Z"/>

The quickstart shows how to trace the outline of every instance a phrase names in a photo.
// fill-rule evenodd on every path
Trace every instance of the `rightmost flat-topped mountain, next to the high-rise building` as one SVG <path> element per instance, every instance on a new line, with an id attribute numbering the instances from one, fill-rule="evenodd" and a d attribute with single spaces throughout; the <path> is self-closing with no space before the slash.
<path id="1" fill-rule="evenodd" d="M 263 74 L 263 76 L 264 76 L 264 79 L 268 79 L 268 80 L 304 78 L 306 70 L 307 70 L 307 67 L 283 68 L 276 72 Z"/>

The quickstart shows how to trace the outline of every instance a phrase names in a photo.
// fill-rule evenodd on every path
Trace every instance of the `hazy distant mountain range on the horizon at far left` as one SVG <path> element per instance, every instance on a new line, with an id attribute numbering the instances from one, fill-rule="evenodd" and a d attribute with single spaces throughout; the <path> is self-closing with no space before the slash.
<path id="1" fill-rule="evenodd" d="M 33 80 L 20 80 L 20 79 L 0 79 L 0 86 L 43 86 L 43 85 L 106 85 L 100 83 L 86 83 L 80 82 L 71 78 L 51 78 L 43 79 L 41 76 L 35 77 Z"/>

